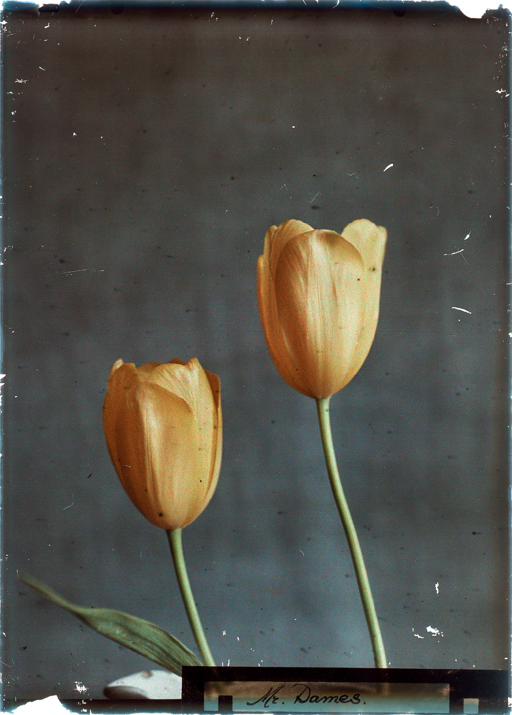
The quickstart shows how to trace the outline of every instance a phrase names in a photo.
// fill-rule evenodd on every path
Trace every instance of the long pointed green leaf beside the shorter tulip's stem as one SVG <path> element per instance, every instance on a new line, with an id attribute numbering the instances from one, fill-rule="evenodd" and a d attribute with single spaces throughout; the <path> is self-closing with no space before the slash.
<path id="1" fill-rule="evenodd" d="M 159 626 L 155 626 L 154 623 L 130 616 L 129 613 L 114 611 L 112 608 L 76 606 L 74 603 L 66 601 L 66 598 L 56 593 L 53 588 L 32 576 L 24 574 L 18 578 L 27 586 L 42 593 L 45 598 L 56 603 L 57 606 L 74 613 L 102 636 L 111 638 L 112 641 L 120 643 L 121 646 L 129 648 L 141 656 L 146 656 L 150 661 L 158 663 L 176 675 L 181 676 L 181 666 L 202 665 L 199 658 L 189 651 L 178 638 L 174 638 Z"/>

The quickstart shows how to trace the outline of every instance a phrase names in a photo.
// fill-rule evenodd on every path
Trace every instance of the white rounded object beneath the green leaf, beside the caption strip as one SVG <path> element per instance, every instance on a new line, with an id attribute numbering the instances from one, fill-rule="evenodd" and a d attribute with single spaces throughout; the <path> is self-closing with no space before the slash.
<path id="1" fill-rule="evenodd" d="M 103 694 L 111 700 L 179 700 L 181 678 L 169 671 L 141 671 L 109 683 Z"/>

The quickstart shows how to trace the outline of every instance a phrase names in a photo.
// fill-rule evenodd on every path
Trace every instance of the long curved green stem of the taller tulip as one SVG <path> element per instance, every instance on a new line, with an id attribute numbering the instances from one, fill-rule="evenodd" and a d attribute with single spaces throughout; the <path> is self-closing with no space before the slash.
<path id="1" fill-rule="evenodd" d="M 341 523 L 345 530 L 348 541 L 348 548 L 352 556 L 353 566 L 356 571 L 357 584 L 359 593 L 361 593 L 361 601 L 363 602 L 364 615 L 366 623 L 368 623 L 368 631 L 370 631 L 371 645 L 373 648 L 373 657 L 375 659 L 376 668 L 386 668 L 386 653 L 384 652 L 384 644 L 382 642 L 381 628 L 378 626 L 377 613 L 375 604 L 371 596 L 370 582 L 366 573 L 366 566 L 363 561 L 363 553 L 359 540 L 357 538 L 356 527 L 353 525 L 348 503 L 343 493 L 341 479 L 336 465 L 336 454 L 334 453 L 333 436 L 331 433 L 331 418 L 329 416 L 329 400 L 331 398 L 316 400 L 318 409 L 318 423 L 320 424 L 320 434 L 323 445 L 323 454 L 326 458 L 327 471 L 331 488 L 333 490 L 334 501 L 338 507 L 338 512 L 341 517 Z"/>

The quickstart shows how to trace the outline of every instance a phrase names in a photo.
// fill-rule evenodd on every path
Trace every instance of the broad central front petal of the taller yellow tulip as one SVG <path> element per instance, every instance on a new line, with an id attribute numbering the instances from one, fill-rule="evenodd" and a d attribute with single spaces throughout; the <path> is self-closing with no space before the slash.
<path id="1" fill-rule="evenodd" d="M 348 382 L 365 311 L 361 255 L 334 231 L 289 240 L 275 275 L 278 322 L 305 394 L 326 398 Z"/>

